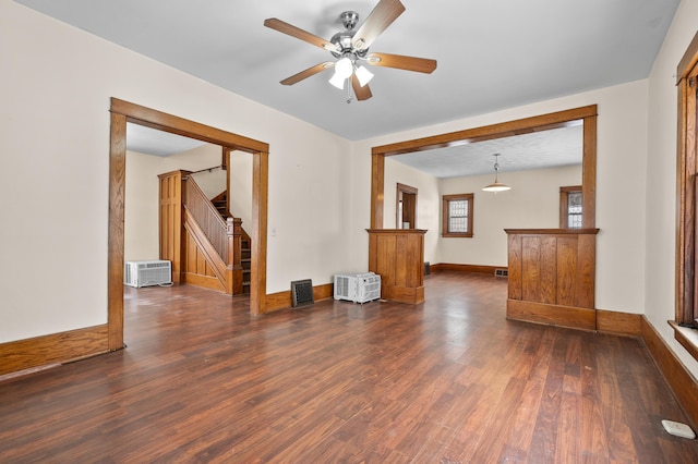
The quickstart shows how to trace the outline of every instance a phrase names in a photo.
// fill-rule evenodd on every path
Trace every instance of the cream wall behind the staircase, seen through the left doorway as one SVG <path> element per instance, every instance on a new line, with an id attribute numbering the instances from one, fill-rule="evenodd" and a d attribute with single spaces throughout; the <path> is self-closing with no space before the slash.
<path id="1" fill-rule="evenodd" d="M 127 134 L 128 137 L 128 134 Z M 123 257 L 127 261 L 158 259 L 159 180 L 158 175 L 178 169 L 198 171 L 220 164 L 221 148 L 205 144 L 169 157 L 127 151 Z M 249 155 L 248 155 L 249 156 Z M 202 173 L 196 182 L 209 198 L 225 190 L 225 171 Z M 222 180 L 220 180 L 222 173 Z M 215 179 L 214 179 L 215 178 Z"/>

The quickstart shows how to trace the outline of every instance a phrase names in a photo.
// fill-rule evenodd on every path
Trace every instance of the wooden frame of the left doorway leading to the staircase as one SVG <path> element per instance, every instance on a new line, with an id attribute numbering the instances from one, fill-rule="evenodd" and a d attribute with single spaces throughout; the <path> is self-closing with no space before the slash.
<path id="1" fill-rule="evenodd" d="M 205 124 L 111 98 L 109 147 L 108 332 L 109 350 L 123 347 L 123 262 L 127 122 L 195 138 L 253 156 L 250 313 L 266 312 L 266 239 L 269 146 Z"/>

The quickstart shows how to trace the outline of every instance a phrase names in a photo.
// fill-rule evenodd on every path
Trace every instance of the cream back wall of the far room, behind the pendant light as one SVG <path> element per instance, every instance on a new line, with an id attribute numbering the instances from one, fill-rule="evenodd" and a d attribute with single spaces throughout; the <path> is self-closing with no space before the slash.
<path id="1" fill-rule="evenodd" d="M 506 267 L 504 229 L 559 228 L 559 187 L 581 184 L 581 164 L 500 172 L 500 182 L 512 190 L 482 192 L 493 180 L 493 174 L 488 174 L 441 181 L 443 195 L 474 194 L 473 236 L 442 239 L 442 262 Z"/>

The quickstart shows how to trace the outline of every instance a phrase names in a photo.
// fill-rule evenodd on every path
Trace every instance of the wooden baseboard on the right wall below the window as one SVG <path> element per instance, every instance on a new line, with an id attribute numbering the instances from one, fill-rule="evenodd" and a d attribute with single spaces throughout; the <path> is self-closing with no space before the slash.
<path id="1" fill-rule="evenodd" d="M 645 316 L 640 318 L 640 339 L 654 359 L 678 403 L 694 425 L 698 425 L 698 382 L 676 357 Z"/>

